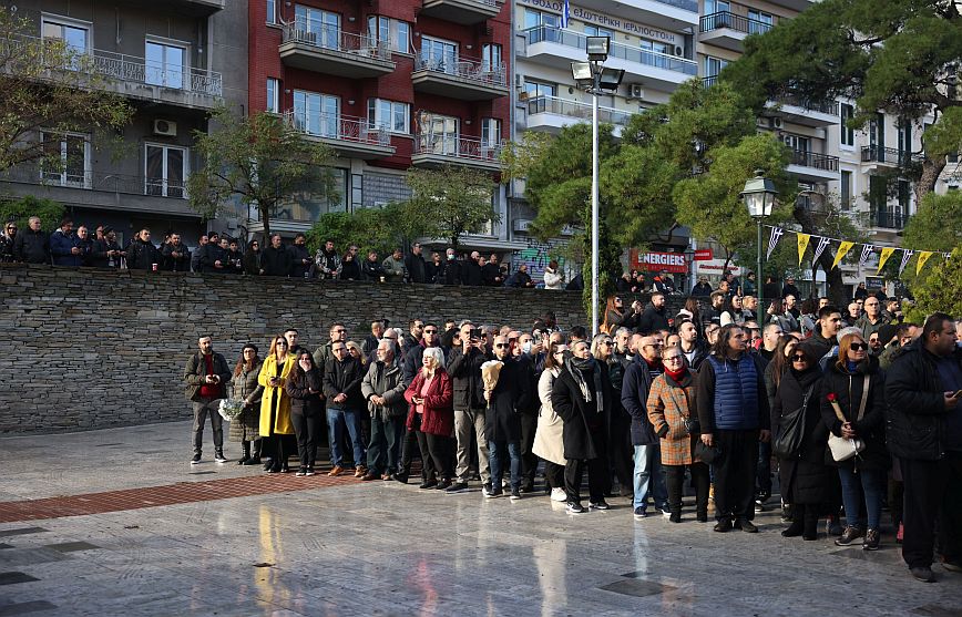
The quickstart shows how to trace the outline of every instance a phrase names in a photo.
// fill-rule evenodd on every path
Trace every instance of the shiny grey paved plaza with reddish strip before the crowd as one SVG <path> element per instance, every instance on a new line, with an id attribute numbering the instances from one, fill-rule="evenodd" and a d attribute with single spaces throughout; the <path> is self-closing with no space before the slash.
<path id="1" fill-rule="evenodd" d="M 867 554 L 785 539 L 775 512 L 723 535 L 618 497 L 570 515 L 541 493 L 268 476 L 209 443 L 192 466 L 188 435 L 0 439 L 0 617 L 962 615 L 962 575 L 915 582 L 891 534 Z"/>

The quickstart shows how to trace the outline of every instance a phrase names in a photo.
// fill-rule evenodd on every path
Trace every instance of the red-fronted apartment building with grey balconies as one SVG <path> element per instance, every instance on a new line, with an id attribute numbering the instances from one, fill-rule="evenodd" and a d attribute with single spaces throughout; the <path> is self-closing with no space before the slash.
<path id="1" fill-rule="evenodd" d="M 337 198 L 306 187 L 270 220 L 282 234 L 329 212 L 405 199 L 410 167 L 498 177 L 509 137 L 511 4 L 498 0 L 252 0 L 249 110 L 282 114 L 337 154 Z M 508 249 L 502 223 L 465 238 Z M 430 216 L 430 213 L 426 213 Z M 248 214 L 250 232 L 263 225 Z"/>

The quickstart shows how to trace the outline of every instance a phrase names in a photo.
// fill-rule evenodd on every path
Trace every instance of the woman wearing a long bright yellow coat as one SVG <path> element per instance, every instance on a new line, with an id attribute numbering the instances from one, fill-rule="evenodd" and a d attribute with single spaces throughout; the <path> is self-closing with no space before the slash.
<path id="1" fill-rule="evenodd" d="M 288 353 L 287 340 L 276 336 L 257 376 L 257 383 L 264 387 L 260 398 L 260 439 L 264 440 L 262 456 L 270 456 L 264 464 L 267 473 L 288 471 L 286 450 L 289 449 L 285 449 L 284 442 L 290 439 L 286 435 L 294 434 L 294 425 L 290 423 L 290 399 L 284 385 L 294 362 L 294 354 Z"/>

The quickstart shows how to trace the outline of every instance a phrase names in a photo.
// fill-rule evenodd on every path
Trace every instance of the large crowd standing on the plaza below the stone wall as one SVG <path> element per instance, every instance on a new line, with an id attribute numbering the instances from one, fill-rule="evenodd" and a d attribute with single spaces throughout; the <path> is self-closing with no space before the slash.
<path id="1" fill-rule="evenodd" d="M 825 520 L 835 544 L 877 551 L 890 531 L 917 579 L 935 579 L 935 552 L 962 572 L 962 322 L 908 323 L 872 295 L 858 315 L 799 307 L 790 288 L 759 321 L 744 289 L 675 315 L 663 292 L 627 308 L 613 296 L 594 337 L 552 313 L 524 328 L 375 321 L 356 341 L 335 322 L 314 351 L 290 328 L 233 368 L 201 337 L 184 372 L 191 462 L 206 415 L 227 462 L 214 410 L 232 398 L 238 463 L 266 473 L 318 473 L 326 432 L 329 476 L 407 484 L 420 459 L 423 491 L 480 482 L 487 498 L 520 500 L 543 477 L 571 514 L 621 495 L 636 520 L 671 523 L 690 486 L 694 520 L 714 510 L 718 533 L 756 533 L 777 476 L 782 536 L 816 539 Z"/>

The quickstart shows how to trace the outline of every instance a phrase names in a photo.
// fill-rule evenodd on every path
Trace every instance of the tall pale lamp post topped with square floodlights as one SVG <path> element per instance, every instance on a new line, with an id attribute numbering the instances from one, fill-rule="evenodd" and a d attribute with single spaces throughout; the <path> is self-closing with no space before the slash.
<path id="1" fill-rule="evenodd" d="M 611 37 L 586 37 L 587 62 L 572 62 L 571 76 L 591 96 L 591 331 L 598 331 L 598 136 L 597 97 L 617 91 L 625 72 L 605 69 Z"/>

